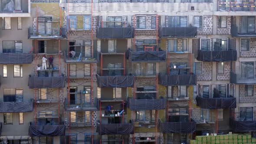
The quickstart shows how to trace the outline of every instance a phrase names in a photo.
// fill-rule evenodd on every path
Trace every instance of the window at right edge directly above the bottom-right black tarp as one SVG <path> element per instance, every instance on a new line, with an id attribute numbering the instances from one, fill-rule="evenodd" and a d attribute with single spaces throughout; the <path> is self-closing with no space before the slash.
<path id="1" fill-rule="evenodd" d="M 240 121 L 253 121 L 253 107 L 239 108 Z"/>

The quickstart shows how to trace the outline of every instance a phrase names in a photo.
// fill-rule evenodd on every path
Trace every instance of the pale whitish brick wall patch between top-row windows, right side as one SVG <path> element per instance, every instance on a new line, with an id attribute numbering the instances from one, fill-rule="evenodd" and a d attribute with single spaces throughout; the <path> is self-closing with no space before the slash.
<path id="1" fill-rule="evenodd" d="M 213 34 L 213 16 L 203 16 L 203 28 L 197 29 L 198 35 Z"/>

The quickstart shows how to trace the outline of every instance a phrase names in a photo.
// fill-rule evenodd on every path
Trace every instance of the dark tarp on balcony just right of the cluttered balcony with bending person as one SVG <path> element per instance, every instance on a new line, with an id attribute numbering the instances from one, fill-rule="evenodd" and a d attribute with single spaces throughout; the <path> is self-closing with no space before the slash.
<path id="1" fill-rule="evenodd" d="M 131 111 L 159 110 L 166 108 L 166 99 L 129 99 Z"/>

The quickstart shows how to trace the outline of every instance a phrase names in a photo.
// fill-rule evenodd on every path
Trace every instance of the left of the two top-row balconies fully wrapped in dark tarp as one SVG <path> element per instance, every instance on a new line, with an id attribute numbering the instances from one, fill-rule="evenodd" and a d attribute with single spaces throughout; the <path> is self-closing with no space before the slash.
<path id="1" fill-rule="evenodd" d="M 97 29 L 98 39 L 132 39 L 134 38 L 134 28 L 126 27 L 125 21 L 101 22 L 101 27 Z"/>

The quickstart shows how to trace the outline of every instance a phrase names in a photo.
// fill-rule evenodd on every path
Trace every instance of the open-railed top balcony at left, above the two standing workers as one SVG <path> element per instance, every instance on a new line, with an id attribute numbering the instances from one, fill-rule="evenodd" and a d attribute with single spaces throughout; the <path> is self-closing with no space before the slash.
<path id="1" fill-rule="evenodd" d="M 28 28 L 28 39 L 37 40 L 49 40 L 49 39 L 65 39 L 66 29 L 65 28 L 55 28 L 50 29 L 50 32 L 35 32 L 30 27 Z"/>

